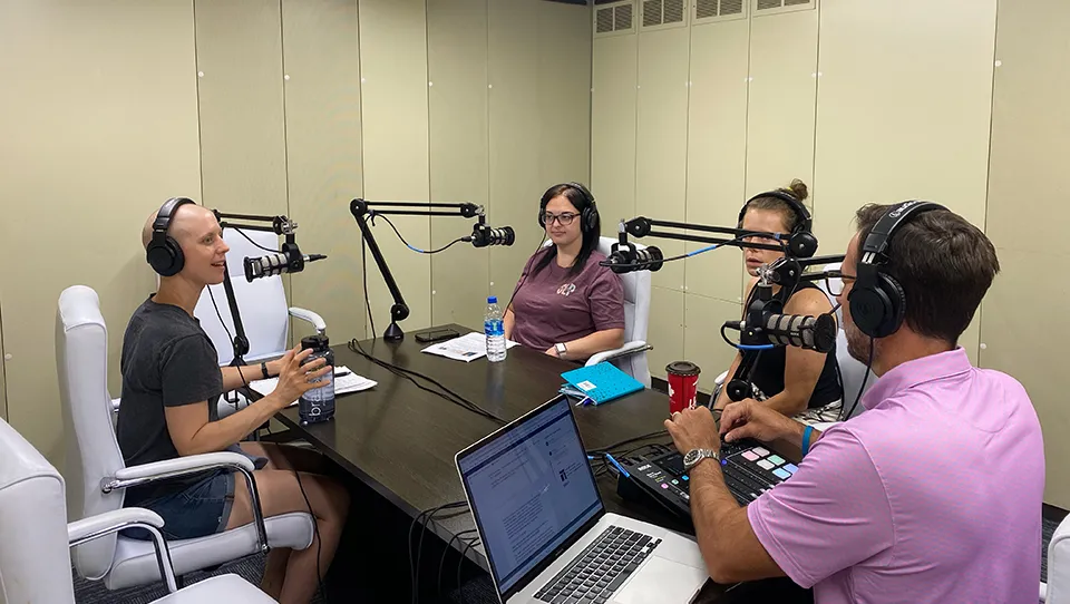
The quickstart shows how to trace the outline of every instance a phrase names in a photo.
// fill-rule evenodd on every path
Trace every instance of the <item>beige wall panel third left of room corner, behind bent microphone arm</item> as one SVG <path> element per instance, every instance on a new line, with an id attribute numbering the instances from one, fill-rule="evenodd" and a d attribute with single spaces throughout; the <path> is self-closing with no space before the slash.
<path id="1" fill-rule="evenodd" d="M 373 202 L 426 202 L 429 175 L 424 1 L 361 0 L 358 10 L 364 196 Z M 396 216 L 390 220 L 410 244 L 428 249 L 429 218 Z M 411 334 L 428 327 L 431 323 L 430 259 L 408 250 L 386 221 L 377 221 L 374 234 L 411 311 L 400 323 L 401 329 Z M 371 257 L 368 257 L 368 271 L 377 335 L 382 335 L 390 323 L 393 300 Z"/>

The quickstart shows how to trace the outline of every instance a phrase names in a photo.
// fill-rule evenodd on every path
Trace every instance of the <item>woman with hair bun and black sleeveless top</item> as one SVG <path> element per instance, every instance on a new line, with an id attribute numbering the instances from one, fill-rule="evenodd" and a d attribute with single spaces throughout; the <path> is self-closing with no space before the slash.
<path id="1" fill-rule="evenodd" d="M 802 205 L 807 197 L 806 185 L 792 181 L 788 188 L 778 188 L 751 198 L 740 212 L 739 228 L 762 233 L 778 233 L 787 238 L 804 228 L 809 228 L 809 212 Z M 745 241 L 774 243 L 769 237 L 748 237 Z M 758 269 L 784 256 L 776 250 L 743 249 L 743 262 L 751 279 L 747 286 L 746 309 L 752 301 Z M 809 282 L 800 282 L 794 292 L 774 285 L 774 296 L 784 303 L 785 314 L 818 315 L 833 310 L 821 290 Z M 749 355 L 749 357 L 745 357 Z M 728 383 L 736 368 L 745 358 L 753 358 L 750 376 L 753 384 L 751 399 L 786 416 L 806 422 L 835 421 L 843 408 L 844 388 L 836 361 L 836 349 L 827 354 L 795 347 L 777 347 L 770 350 L 740 352 L 732 361 L 724 382 Z M 728 389 L 721 388 L 713 405 L 723 409 L 731 400 Z"/>

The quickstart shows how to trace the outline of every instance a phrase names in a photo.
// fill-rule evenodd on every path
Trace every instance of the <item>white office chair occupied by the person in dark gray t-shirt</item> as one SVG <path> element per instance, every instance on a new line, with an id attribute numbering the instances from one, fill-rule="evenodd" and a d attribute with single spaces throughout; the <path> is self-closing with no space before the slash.
<path id="1" fill-rule="evenodd" d="M 207 469 L 227 468 L 253 494 L 255 520 L 246 526 L 168 544 L 179 575 L 216 566 L 271 547 L 303 549 L 312 543 L 308 514 L 261 517 L 253 465 L 235 452 L 213 452 L 127 467 L 115 437 L 108 397 L 108 332 L 97 293 L 84 285 L 64 290 L 56 314 L 56 369 L 67 436 L 67 508 L 72 519 L 116 513 L 124 489 Z M 0 458 L 2 459 L 2 458 Z M 0 540 L 4 540 L 0 538 Z M 75 568 L 109 590 L 160 579 L 153 544 L 110 534 L 75 548 Z"/>

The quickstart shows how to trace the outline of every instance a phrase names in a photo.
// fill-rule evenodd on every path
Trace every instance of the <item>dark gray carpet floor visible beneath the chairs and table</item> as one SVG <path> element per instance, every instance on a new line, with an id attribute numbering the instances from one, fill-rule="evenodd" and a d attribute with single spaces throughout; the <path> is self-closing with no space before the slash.
<path id="1" fill-rule="evenodd" d="M 1040 572 L 1041 581 L 1048 579 L 1048 542 L 1051 540 L 1051 535 L 1054 533 L 1057 526 L 1058 523 L 1053 520 L 1045 519 L 1043 523 L 1043 554 L 1041 557 Z M 260 579 L 263 576 L 263 569 L 264 556 L 256 555 L 225 564 L 212 573 L 191 573 L 184 578 L 188 585 L 191 583 L 204 581 L 205 578 L 214 575 L 234 573 L 244 577 L 250 583 L 259 585 Z M 328 582 L 331 582 L 332 578 L 338 577 L 338 575 L 339 574 L 332 574 L 328 577 Z M 75 598 L 78 604 L 147 604 L 154 600 L 167 595 L 167 591 L 163 585 L 148 585 L 109 592 L 101 583 L 86 581 L 79 577 L 76 573 L 74 573 L 74 578 Z M 358 597 L 352 595 L 358 592 L 356 585 L 340 585 L 337 578 L 333 579 L 333 583 L 328 583 L 324 585 L 324 588 L 331 595 L 329 600 L 330 602 L 348 603 L 360 601 Z M 399 585 L 398 602 L 405 601 L 408 597 L 408 585 Z M 315 604 L 322 604 L 328 602 L 328 598 L 324 598 L 322 594 L 319 594 L 312 602 Z M 490 583 L 490 578 L 488 576 L 483 576 L 467 582 L 464 585 L 464 594 L 454 588 L 445 597 L 439 598 L 439 602 L 442 604 L 458 602 L 463 604 L 497 604 L 497 598 L 494 595 L 494 586 Z"/>

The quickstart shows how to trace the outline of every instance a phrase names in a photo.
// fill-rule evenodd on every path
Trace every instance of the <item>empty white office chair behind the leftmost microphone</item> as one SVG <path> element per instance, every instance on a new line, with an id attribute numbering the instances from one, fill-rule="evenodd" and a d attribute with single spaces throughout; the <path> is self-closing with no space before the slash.
<path id="1" fill-rule="evenodd" d="M 242 236 L 243 233 L 245 236 Z M 259 380 L 263 376 L 255 367 L 256 363 L 285 354 L 289 348 L 291 316 L 308 321 L 318 333 L 327 332 L 327 323 L 322 316 L 310 310 L 286 306 L 286 292 L 281 275 L 262 277 L 253 282 L 245 280 L 244 259 L 269 254 L 270 252 L 264 249 L 278 250 L 278 235 L 264 231 L 242 230 L 239 233 L 234 228 L 224 228 L 223 238 L 231 247 L 226 254 L 226 267 L 234 289 L 234 300 L 241 313 L 242 325 L 245 328 L 245 337 L 249 339 L 249 353 L 244 358 L 251 367 L 243 368 L 242 371 L 246 380 Z M 230 364 L 234 360 L 234 318 L 231 315 L 226 290 L 222 283 L 210 285 L 201 292 L 201 299 L 193 314 L 201 321 L 201 328 L 215 344 L 220 366 Z M 226 400 L 227 398 L 230 401 Z M 221 397 L 216 409 L 218 417 L 223 418 L 247 405 L 245 397 L 240 393 L 230 393 Z"/>

